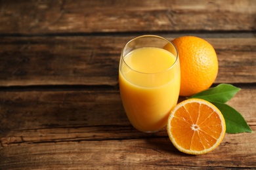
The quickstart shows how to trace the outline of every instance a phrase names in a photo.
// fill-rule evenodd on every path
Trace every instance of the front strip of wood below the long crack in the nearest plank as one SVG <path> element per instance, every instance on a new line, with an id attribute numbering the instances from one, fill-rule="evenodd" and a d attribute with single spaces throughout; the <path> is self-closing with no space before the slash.
<path id="1" fill-rule="evenodd" d="M 168 137 L 31 143 L 0 150 L 1 169 L 218 169 L 253 168 L 255 135 L 226 135 L 206 155 L 179 152 Z M 248 147 L 251 151 L 248 153 Z M 224 159 L 223 159 L 224 158 Z M 46 163 L 47 162 L 47 163 Z"/>

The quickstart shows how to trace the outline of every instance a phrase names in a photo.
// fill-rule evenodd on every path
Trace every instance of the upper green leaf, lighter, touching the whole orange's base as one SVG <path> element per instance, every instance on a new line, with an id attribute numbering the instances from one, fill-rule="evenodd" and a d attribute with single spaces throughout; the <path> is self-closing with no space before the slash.
<path id="1" fill-rule="evenodd" d="M 226 103 L 241 89 L 231 84 L 219 84 L 215 88 L 209 88 L 203 92 L 192 95 L 188 98 L 205 99 L 209 102 Z"/>

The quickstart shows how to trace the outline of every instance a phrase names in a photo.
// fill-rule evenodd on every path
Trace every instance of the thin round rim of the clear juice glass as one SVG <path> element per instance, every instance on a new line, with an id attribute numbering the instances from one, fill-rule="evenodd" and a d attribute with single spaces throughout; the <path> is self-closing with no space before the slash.
<path id="1" fill-rule="evenodd" d="M 165 70 L 163 70 L 163 71 L 159 71 L 159 72 L 156 72 L 156 73 L 144 73 L 144 72 L 142 72 L 142 71 L 137 71 L 137 70 L 131 68 L 131 67 L 125 62 L 124 57 L 127 56 L 127 55 L 123 56 L 123 50 L 125 49 L 125 47 L 126 47 L 129 43 L 131 43 L 132 41 L 135 41 L 136 39 L 140 39 L 140 38 L 143 38 L 143 37 L 152 37 L 152 38 L 162 39 L 162 40 L 166 41 L 167 43 L 171 44 L 171 45 L 175 48 L 175 51 L 176 51 L 177 55 L 175 56 L 175 55 L 173 54 L 173 56 L 175 56 L 176 59 L 175 59 L 174 63 L 173 63 L 168 69 L 165 69 Z M 145 47 L 146 47 L 146 46 L 145 46 Z M 163 49 L 163 48 L 162 48 L 162 49 Z M 167 50 L 167 51 L 168 51 L 168 50 Z M 128 54 L 129 54 L 129 53 L 128 53 Z M 171 54 L 172 54 L 172 53 L 171 53 Z M 165 38 L 163 38 L 163 37 L 161 37 L 161 36 L 159 36 L 159 35 L 140 35 L 140 36 L 135 37 L 135 38 L 129 40 L 128 42 L 126 42 L 125 46 L 123 46 L 123 48 L 122 48 L 122 50 L 121 50 L 121 59 L 122 59 L 123 63 L 125 63 L 125 65 L 126 65 L 127 67 L 129 67 L 129 69 L 131 69 L 132 71 L 135 71 L 135 72 L 137 72 L 137 73 L 141 73 L 141 74 L 144 74 L 144 75 L 156 75 L 156 74 L 164 73 L 164 72 L 169 71 L 170 69 L 172 69 L 172 68 L 174 67 L 174 65 L 176 65 L 176 63 L 177 63 L 177 61 L 178 61 L 178 59 L 179 59 L 179 53 L 178 53 L 178 50 L 177 50 L 175 44 L 173 44 L 173 42 L 171 42 L 171 41 L 169 41 L 169 40 L 167 40 L 167 39 L 165 39 Z"/>

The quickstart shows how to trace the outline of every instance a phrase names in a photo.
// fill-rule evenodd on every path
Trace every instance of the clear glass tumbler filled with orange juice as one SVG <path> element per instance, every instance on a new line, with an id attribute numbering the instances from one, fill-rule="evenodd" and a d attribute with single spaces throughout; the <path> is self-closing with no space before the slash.
<path id="1" fill-rule="evenodd" d="M 177 105 L 180 84 L 179 57 L 172 42 L 142 35 L 125 44 L 119 62 L 119 90 L 133 127 L 150 133 L 166 126 Z"/>

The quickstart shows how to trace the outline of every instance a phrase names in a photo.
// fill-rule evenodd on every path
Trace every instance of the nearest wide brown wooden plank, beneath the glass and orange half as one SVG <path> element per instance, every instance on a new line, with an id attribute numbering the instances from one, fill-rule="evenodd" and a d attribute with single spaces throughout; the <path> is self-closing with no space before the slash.
<path id="1" fill-rule="evenodd" d="M 228 102 L 256 131 L 256 89 Z M 167 132 L 140 133 L 118 90 L 0 92 L 0 169 L 212 169 L 256 167 L 256 133 L 226 134 L 202 156 L 179 152 Z"/>

